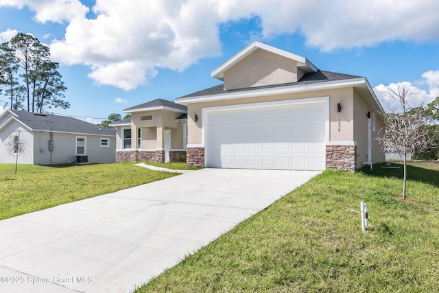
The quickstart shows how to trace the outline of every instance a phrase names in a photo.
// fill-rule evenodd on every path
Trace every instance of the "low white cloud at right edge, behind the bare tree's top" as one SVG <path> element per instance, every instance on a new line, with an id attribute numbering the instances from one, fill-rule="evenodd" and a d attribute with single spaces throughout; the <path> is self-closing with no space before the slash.
<path id="1" fill-rule="evenodd" d="M 405 88 L 411 93 L 410 106 L 426 106 L 434 98 L 439 95 L 439 71 L 427 71 L 423 73 L 424 80 L 420 82 L 422 84 L 428 84 L 428 89 L 420 89 L 420 87 L 412 84 L 412 82 L 397 82 L 389 85 L 379 84 L 375 86 L 374 91 L 377 95 L 379 102 L 383 106 L 385 112 L 399 110 L 399 104 L 390 96 L 388 88 L 393 91 L 398 91 L 398 86 Z"/>

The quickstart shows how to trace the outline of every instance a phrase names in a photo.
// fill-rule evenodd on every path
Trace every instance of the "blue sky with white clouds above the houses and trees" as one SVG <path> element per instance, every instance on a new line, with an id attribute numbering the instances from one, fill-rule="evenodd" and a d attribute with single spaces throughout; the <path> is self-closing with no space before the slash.
<path id="1" fill-rule="evenodd" d="M 365 76 L 385 108 L 386 86 L 409 86 L 414 103 L 439 95 L 438 1 L 296 2 L 0 0 L 0 41 L 49 45 L 71 104 L 51 111 L 95 122 L 220 84 L 211 71 L 253 40 Z"/>

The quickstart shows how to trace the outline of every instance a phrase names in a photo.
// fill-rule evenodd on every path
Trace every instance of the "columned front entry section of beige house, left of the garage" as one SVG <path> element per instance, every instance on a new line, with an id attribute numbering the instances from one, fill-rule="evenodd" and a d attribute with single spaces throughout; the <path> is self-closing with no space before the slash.
<path id="1" fill-rule="evenodd" d="M 186 161 L 187 107 L 165 99 L 123 110 L 115 121 L 116 161 Z"/>

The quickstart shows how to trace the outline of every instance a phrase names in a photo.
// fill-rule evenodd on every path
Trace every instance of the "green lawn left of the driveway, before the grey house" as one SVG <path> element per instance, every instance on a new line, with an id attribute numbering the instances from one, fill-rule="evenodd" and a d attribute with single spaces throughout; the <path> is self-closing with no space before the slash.
<path id="1" fill-rule="evenodd" d="M 14 167 L 0 164 L 0 220 L 176 175 L 132 163 Z"/>

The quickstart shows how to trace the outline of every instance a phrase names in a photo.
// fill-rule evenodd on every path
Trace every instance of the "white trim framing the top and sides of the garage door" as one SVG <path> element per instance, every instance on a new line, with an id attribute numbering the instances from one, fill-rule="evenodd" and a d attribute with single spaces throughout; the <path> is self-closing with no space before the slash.
<path id="1" fill-rule="evenodd" d="M 329 141 L 330 134 L 330 122 L 329 122 L 329 96 L 324 97 L 307 97 L 304 99 L 285 99 L 281 101 L 272 101 L 272 102 L 259 102 L 259 103 L 251 103 L 251 104 L 239 104 L 239 105 L 227 105 L 227 106 L 215 106 L 215 107 L 206 107 L 202 108 L 202 125 L 201 125 L 201 145 L 204 148 L 206 143 L 205 132 L 206 127 L 209 124 L 209 113 L 216 111 L 224 111 L 224 110 L 240 110 L 240 109 L 248 109 L 248 108 L 267 108 L 267 107 L 276 107 L 276 106 L 291 106 L 291 105 L 300 105 L 300 104 L 313 104 L 313 103 L 324 103 L 324 137 L 325 141 Z M 188 145 L 189 148 L 189 145 Z M 195 147 L 196 148 L 196 147 Z"/>

